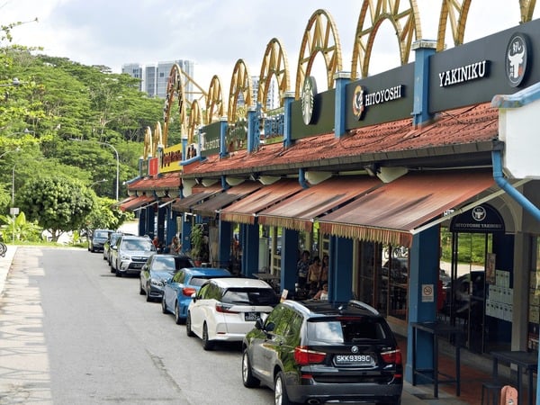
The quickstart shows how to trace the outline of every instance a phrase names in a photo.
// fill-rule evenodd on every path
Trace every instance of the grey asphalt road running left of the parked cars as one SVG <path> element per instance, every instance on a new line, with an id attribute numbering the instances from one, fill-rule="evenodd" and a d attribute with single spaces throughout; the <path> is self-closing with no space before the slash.
<path id="1" fill-rule="evenodd" d="M 202 350 L 101 253 L 20 247 L 0 302 L 0 403 L 270 404 L 238 345 Z"/>

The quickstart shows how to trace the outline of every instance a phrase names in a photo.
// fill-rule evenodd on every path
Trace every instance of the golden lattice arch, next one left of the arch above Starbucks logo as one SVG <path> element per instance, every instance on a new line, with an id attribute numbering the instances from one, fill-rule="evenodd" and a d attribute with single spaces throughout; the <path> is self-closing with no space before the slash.
<path id="1" fill-rule="evenodd" d="M 257 91 L 257 103 L 261 105 L 263 111 L 266 111 L 266 100 L 268 99 L 268 90 L 272 83 L 272 76 L 277 80 L 279 91 L 279 105 L 284 106 L 284 94 L 289 91 L 291 76 L 289 74 L 289 61 L 287 54 L 281 42 L 273 38 L 266 45 L 265 56 L 261 65 L 261 75 L 259 77 L 259 86 Z"/>

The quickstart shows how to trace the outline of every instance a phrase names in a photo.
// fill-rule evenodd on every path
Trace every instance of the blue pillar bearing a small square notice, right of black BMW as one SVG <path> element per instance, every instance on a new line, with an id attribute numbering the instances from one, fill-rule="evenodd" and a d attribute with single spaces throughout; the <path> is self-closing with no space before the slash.
<path id="1" fill-rule="evenodd" d="M 438 227 L 428 228 L 412 239 L 409 250 L 409 326 L 407 329 L 407 365 L 405 380 L 412 383 L 412 327 L 411 322 L 437 320 L 437 283 L 440 267 L 440 243 Z M 433 291 L 431 297 L 423 292 Z M 433 369 L 433 340 L 428 332 L 419 330 L 417 335 L 417 368 Z M 426 383 L 421 375 L 417 383 Z"/>

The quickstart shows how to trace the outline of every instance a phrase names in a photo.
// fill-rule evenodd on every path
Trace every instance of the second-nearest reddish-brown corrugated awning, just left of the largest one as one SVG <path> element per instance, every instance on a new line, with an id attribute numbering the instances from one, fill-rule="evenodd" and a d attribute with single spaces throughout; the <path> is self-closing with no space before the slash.
<path id="1" fill-rule="evenodd" d="M 337 177 L 302 190 L 257 214 L 263 225 L 311 232 L 313 220 L 381 186 L 376 177 Z"/>

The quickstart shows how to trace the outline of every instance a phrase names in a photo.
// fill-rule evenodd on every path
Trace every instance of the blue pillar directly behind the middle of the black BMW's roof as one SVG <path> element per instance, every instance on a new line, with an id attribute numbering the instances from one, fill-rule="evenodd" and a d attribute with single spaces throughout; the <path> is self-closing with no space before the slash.
<path id="1" fill-rule="evenodd" d="M 353 239 L 332 237 L 329 254 L 329 301 L 353 298 Z M 334 270 L 335 269 L 335 270 Z"/>

